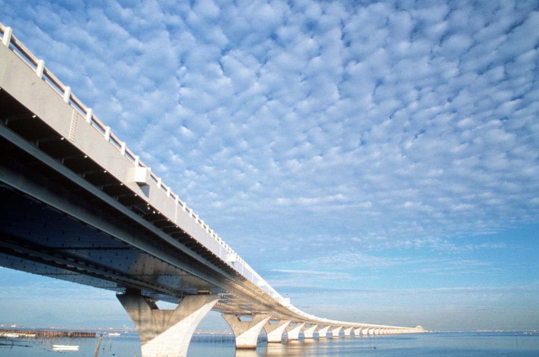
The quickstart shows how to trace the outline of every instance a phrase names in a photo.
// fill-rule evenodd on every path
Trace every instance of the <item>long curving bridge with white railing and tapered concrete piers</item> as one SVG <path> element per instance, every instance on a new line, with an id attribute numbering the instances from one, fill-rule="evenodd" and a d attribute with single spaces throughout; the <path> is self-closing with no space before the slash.
<path id="1" fill-rule="evenodd" d="M 0 23 L 0 265 L 115 291 L 142 355 L 185 356 L 222 313 L 236 347 L 421 326 L 337 321 L 282 297 Z M 156 301 L 178 304 L 160 310 Z"/>

